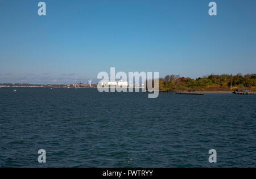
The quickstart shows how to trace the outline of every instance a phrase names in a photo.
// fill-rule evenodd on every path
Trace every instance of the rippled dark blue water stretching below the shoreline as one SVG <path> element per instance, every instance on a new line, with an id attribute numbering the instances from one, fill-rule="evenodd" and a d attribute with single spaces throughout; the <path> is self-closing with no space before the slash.
<path id="1" fill-rule="evenodd" d="M 256 167 L 256 95 L 13 90 L 0 88 L 0 167 Z"/>

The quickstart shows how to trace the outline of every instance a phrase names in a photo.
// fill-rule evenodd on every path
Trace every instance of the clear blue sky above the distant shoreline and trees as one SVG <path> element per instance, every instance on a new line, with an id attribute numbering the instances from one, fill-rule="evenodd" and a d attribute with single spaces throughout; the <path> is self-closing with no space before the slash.
<path id="1" fill-rule="evenodd" d="M 0 0 L 0 83 L 74 83 L 100 71 L 256 73 L 256 1 Z"/>

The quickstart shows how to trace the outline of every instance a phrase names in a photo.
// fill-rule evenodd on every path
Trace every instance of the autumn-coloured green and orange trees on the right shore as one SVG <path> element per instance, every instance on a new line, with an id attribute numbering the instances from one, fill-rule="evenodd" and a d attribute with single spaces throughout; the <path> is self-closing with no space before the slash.
<path id="1" fill-rule="evenodd" d="M 146 82 L 147 83 L 147 82 Z M 154 83 L 153 83 L 154 84 Z M 160 91 L 197 91 L 197 90 L 224 90 L 229 91 L 238 87 L 255 91 L 256 74 L 236 75 L 207 75 L 202 78 L 185 78 L 180 75 L 166 75 L 159 78 Z M 233 88 L 231 88 L 233 87 Z"/>

